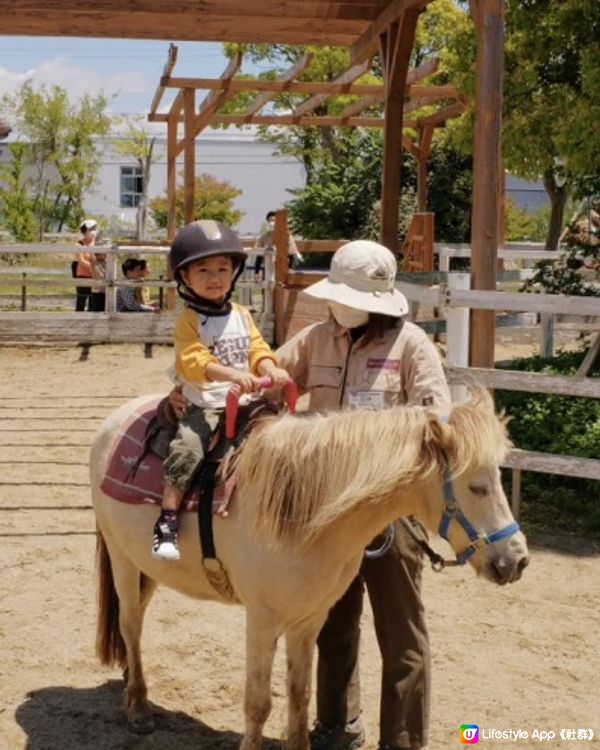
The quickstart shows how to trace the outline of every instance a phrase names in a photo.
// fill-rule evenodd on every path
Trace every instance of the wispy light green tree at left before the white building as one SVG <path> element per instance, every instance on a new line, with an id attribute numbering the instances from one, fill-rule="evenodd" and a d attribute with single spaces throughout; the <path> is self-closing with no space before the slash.
<path id="1" fill-rule="evenodd" d="M 77 227 L 100 163 L 94 139 L 110 125 L 105 97 L 86 94 L 73 103 L 60 86 L 34 89 L 28 81 L 3 103 L 23 137 L 39 238 L 52 227 Z"/>

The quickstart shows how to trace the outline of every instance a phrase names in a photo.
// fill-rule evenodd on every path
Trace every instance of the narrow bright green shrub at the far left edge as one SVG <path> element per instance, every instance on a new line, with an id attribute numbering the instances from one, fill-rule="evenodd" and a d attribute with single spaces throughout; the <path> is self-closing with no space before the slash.
<path id="1" fill-rule="evenodd" d="M 0 166 L 0 220 L 17 242 L 32 242 L 35 217 L 24 174 L 25 146 L 13 143 L 8 150 L 11 161 Z"/>

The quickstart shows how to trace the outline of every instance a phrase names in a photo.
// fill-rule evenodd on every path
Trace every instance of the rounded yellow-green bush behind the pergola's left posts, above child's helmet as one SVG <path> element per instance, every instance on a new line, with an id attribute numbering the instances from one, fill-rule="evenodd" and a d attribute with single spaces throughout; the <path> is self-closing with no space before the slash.
<path id="1" fill-rule="evenodd" d="M 194 217 L 196 219 L 214 219 L 229 226 L 236 226 L 242 213 L 233 207 L 233 201 L 242 191 L 229 182 L 217 180 L 209 174 L 196 177 Z M 184 223 L 184 188 L 180 187 L 175 194 L 175 221 L 178 227 Z M 149 203 L 150 213 L 161 229 L 167 226 L 167 197 L 155 198 Z"/>

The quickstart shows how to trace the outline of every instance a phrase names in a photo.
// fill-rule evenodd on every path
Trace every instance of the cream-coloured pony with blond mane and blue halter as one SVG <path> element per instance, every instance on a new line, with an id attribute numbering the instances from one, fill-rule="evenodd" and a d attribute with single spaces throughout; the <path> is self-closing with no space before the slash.
<path id="1" fill-rule="evenodd" d="M 109 417 L 91 453 L 99 529 L 98 653 L 106 664 L 127 667 L 127 717 L 138 732 L 153 729 L 140 635 L 157 584 L 219 600 L 204 572 L 194 514 L 182 514 L 181 561 L 156 561 L 150 554 L 156 509 L 116 502 L 99 489 L 115 437 L 146 400 Z M 520 577 L 527 546 L 512 525 L 498 470 L 508 447 L 504 424 L 483 391 L 456 406 L 447 423 L 421 408 L 403 407 L 287 416 L 249 438 L 229 517 L 214 518 L 217 554 L 247 610 L 241 750 L 261 746 L 281 635 L 288 664 L 287 747 L 308 750 L 317 634 L 357 574 L 364 548 L 391 521 L 415 514 L 435 532 L 444 509 L 451 509 L 452 520 L 459 507 L 478 538 L 470 540 L 458 523 L 450 523 L 454 550 L 473 553 L 475 570 L 495 583 Z M 444 483 L 448 470 L 451 484 Z M 510 535 L 493 541 L 501 529 Z"/>

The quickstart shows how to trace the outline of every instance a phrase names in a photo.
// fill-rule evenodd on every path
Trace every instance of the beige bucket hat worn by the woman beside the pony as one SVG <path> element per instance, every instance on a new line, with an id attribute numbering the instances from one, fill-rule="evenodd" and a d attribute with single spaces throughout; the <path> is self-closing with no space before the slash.
<path id="1" fill-rule="evenodd" d="M 400 318 L 408 312 L 408 300 L 395 287 L 397 270 L 396 259 L 387 247 L 355 240 L 334 253 L 328 277 L 304 293 L 356 310 Z"/>

